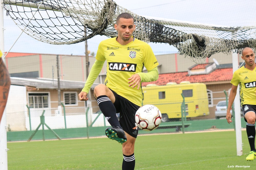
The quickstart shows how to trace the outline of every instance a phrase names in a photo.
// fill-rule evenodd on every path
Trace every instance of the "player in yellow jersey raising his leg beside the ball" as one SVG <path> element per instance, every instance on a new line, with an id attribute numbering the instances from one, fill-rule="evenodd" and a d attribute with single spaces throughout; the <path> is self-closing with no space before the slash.
<path id="1" fill-rule="evenodd" d="M 106 129 L 106 136 L 122 144 L 122 169 L 132 170 L 135 167 L 134 143 L 138 134 L 135 113 L 142 105 L 143 98 L 141 82 L 158 79 L 158 62 L 151 47 L 133 37 L 135 25 L 132 15 L 120 14 L 114 28 L 118 37 L 103 40 L 99 44 L 95 63 L 79 93 L 79 99 L 88 100 L 88 91 L 106 60 L 105 84 L 94 88 L 94 97 L 112 126 Z M 144 66 L 147 73 L 142 72 Z M 120 113 L 120 120 L 116 113 Z"/>

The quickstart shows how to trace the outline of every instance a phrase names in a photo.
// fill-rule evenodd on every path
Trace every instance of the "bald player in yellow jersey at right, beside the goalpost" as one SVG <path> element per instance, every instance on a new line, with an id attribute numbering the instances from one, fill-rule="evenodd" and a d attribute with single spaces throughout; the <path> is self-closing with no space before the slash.
<path id="1" fill-rule="evenodd" d="M 241 105 L 243 109 L 244 120 L 246 123 L 246 132 L 251 147 L 250 154 L 246 157 L 247 161 L 256 159 L 255 150 L 255 119 L 256 119 L 256 64 L 255 54 L 249 47 L 242 50 L 242 59 L 245 65 L 233 74 L 231 80 L 232 88 L 229 94 L 228 108 L 226 119 L 231 123 L 230 109 L 234 102 L 238 84 L 240 85 Z"/>

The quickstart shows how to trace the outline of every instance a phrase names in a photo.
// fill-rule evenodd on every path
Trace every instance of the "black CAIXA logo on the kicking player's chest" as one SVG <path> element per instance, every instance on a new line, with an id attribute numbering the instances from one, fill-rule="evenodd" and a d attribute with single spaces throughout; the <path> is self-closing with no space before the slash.
<path id="1" fill-rule="evenodd" d="M 109 70 L 135 72 L 137 64 L 132 63 L 109 63 Z"/>

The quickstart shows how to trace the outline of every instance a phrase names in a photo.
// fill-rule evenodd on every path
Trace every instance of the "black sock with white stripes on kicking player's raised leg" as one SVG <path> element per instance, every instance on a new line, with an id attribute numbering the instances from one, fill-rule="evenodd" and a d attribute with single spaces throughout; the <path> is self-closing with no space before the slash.
<path id="1" fill-rule="evenodd" d="M 102 95 L 97 97 L 97 102 L 100 107 L 101 112 L 105 116 L 105 118 L 108 120 L 109 124 L 112 127 L 120 126 L 119 120 L 116 116 L 116 110 L 114 104 L 111 102 L 111 100 L 106 95 Z"/>

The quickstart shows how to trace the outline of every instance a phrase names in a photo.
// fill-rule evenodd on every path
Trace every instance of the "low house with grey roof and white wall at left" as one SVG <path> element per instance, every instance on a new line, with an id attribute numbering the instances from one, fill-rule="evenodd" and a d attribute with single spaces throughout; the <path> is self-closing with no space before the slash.
<path id="1" fill-rule="evenodd" d="M 51 128 L 84 127 L 86 112 L 90 124 L 93 113 L 99 110 L 95 100 L 83 102 L 78 99 L 84 82 L 60 80 L 58 83 L 56 79 L 11 77 L 11 84 L 6 105 L 9 131 L 31 130 L 31 124 L 35 130 L 42 115 Z M 92 85 L 92 89 L 95 86 L 97 83 Z M 64 117 L 68 117 L 67 122 Z"/>

